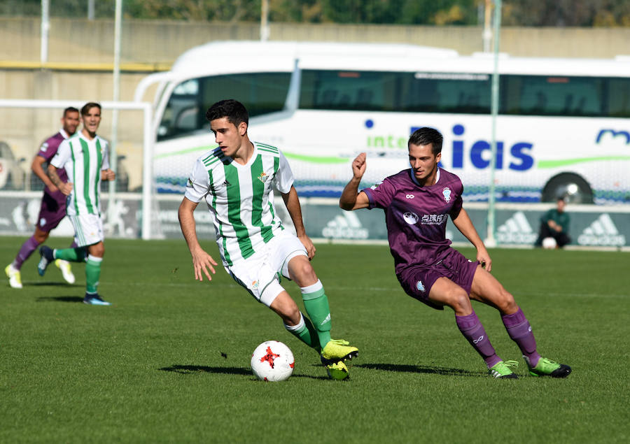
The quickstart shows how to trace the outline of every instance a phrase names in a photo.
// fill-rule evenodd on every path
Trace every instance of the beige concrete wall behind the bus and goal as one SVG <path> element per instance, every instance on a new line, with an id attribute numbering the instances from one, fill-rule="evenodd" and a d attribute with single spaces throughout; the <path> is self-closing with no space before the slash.
<path id="1" fill-rule="evenodd" d="M 50 20 L 48 64 L 40 62 L 40 21 L 0 17 L 0 98 L 106 101 L 113 99 L 113 21 Z M 257 40 L 258 24 L 125 20 L 120 99 L 132 100 L 138 82 L 168 69 L 182 52 L 213 40 Z M 481 51 L 481 27 L 272 23 L 272 40 L 398 42 Z M 504 28 L 501 51 L 521 56 L 614 57 L 630 55 L 630 28 Z M 43 69 L 42 69 L 43 68 Z M 151 92 L 150 92 L 151 93 Z M 150 100 L 152 94 L 147 94 Z M 15 156 L 30 159 L 39 143 L 59 127 L 60 110 L 0 108 L 0 141 Z M 100 133 L 109 136 L 111 113 Z M 130 171 L 130 187 L 141 179 L 141 115 L 120 114 L 118 154 Z"/>

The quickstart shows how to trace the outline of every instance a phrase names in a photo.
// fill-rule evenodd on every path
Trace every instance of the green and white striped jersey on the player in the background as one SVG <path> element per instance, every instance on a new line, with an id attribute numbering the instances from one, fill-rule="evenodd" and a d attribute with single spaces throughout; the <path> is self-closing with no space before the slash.
<path id="1" fill-rule="evenodd" d="M 81 131 L 59 144 L 50 164 L 63 168 L 73 189 L 66 204 L 68 215 L 101 214 L 101 170 L 109 169 L 108 144 L 99 136 L 91 141 Z"/>

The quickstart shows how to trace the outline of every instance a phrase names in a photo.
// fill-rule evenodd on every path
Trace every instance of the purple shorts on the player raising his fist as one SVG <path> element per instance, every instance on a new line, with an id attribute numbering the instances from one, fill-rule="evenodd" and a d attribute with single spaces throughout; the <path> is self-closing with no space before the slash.
<path id="1" fill-rule="evenodd" d="M 479 262 L 469 261 L 461 252 L 449 248 L 442 256 L 442 259 L 435 264 L 406 268 L 397 277 L 400 286 L 409 296 L 426 303 L 432 308 L 444 310 L 443 306 L 439 306 L 428 299 L 431 287 L 433 287 L 437 278 L 449 278 L 465 289 L 466 293 L 470 294 L 472 278 L 475 277 L 478 265 Z"/>

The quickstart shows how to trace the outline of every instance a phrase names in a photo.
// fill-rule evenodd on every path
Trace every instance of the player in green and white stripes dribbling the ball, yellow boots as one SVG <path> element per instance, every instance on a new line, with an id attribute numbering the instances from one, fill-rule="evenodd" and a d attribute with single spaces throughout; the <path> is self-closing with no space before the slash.
<path id="1" fill-rule="evenodd" d="M 179 206 L 195 279 L 203 280 L 206 275 L 212 280 L 217 264 L 202 249 L 195 231 L 193 211 L 205 200 L 225 270 L 277 313 L 291 334 L 320 354 L 332 378 L 346 378 L 344 361 L 356 357 L 358 349 L 330 338 L 328 298 L 309 262 L 315 247 L 304 230 L 286 158 L 278 148 L 249 140 L 248 113 L 242 103 L 219 101 L 207 110 L 206 117 L 218 147 L 195 162 Z M 274 208 L 274 189 L 282 196 L 297 237 L 283 226 Z M 300 286 L 308 317 L 280 285 L 282 276 Z"/>

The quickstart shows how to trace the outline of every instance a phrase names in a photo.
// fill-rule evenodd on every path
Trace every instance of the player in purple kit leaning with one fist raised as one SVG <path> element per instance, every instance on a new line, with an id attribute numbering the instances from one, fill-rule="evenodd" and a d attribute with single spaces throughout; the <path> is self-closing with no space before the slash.
<path id="1" fill-rule="evenodd" d="M 571 368 L 540 357 L 530 324 L 512 294 L 490 274 L 492 261 L 468 213 L 462 207 L 463 185 L 453 173 L 437 166 L 442 157 L 442 134 L 420 128 L 409 137 L 411 169 L 385 178 L 358 192 L 365 173 L 365 152 L 352 162 L 353 178 L 344 188 L 339 206 L 344 210 L 382 208 L 395 272 L 405 292 L 426 305 L 455 312 L 457 327 L 486 362 L 494 378 L 517 378 L 496 355 L 488 335 L 472 309 L 471 300 L 499 310 L 507 334 L 517 343 L 531 375 L 566 378 Z M 450 247 L 446 224 L 455 227 L 477 248 L 477 261 Z"/>

